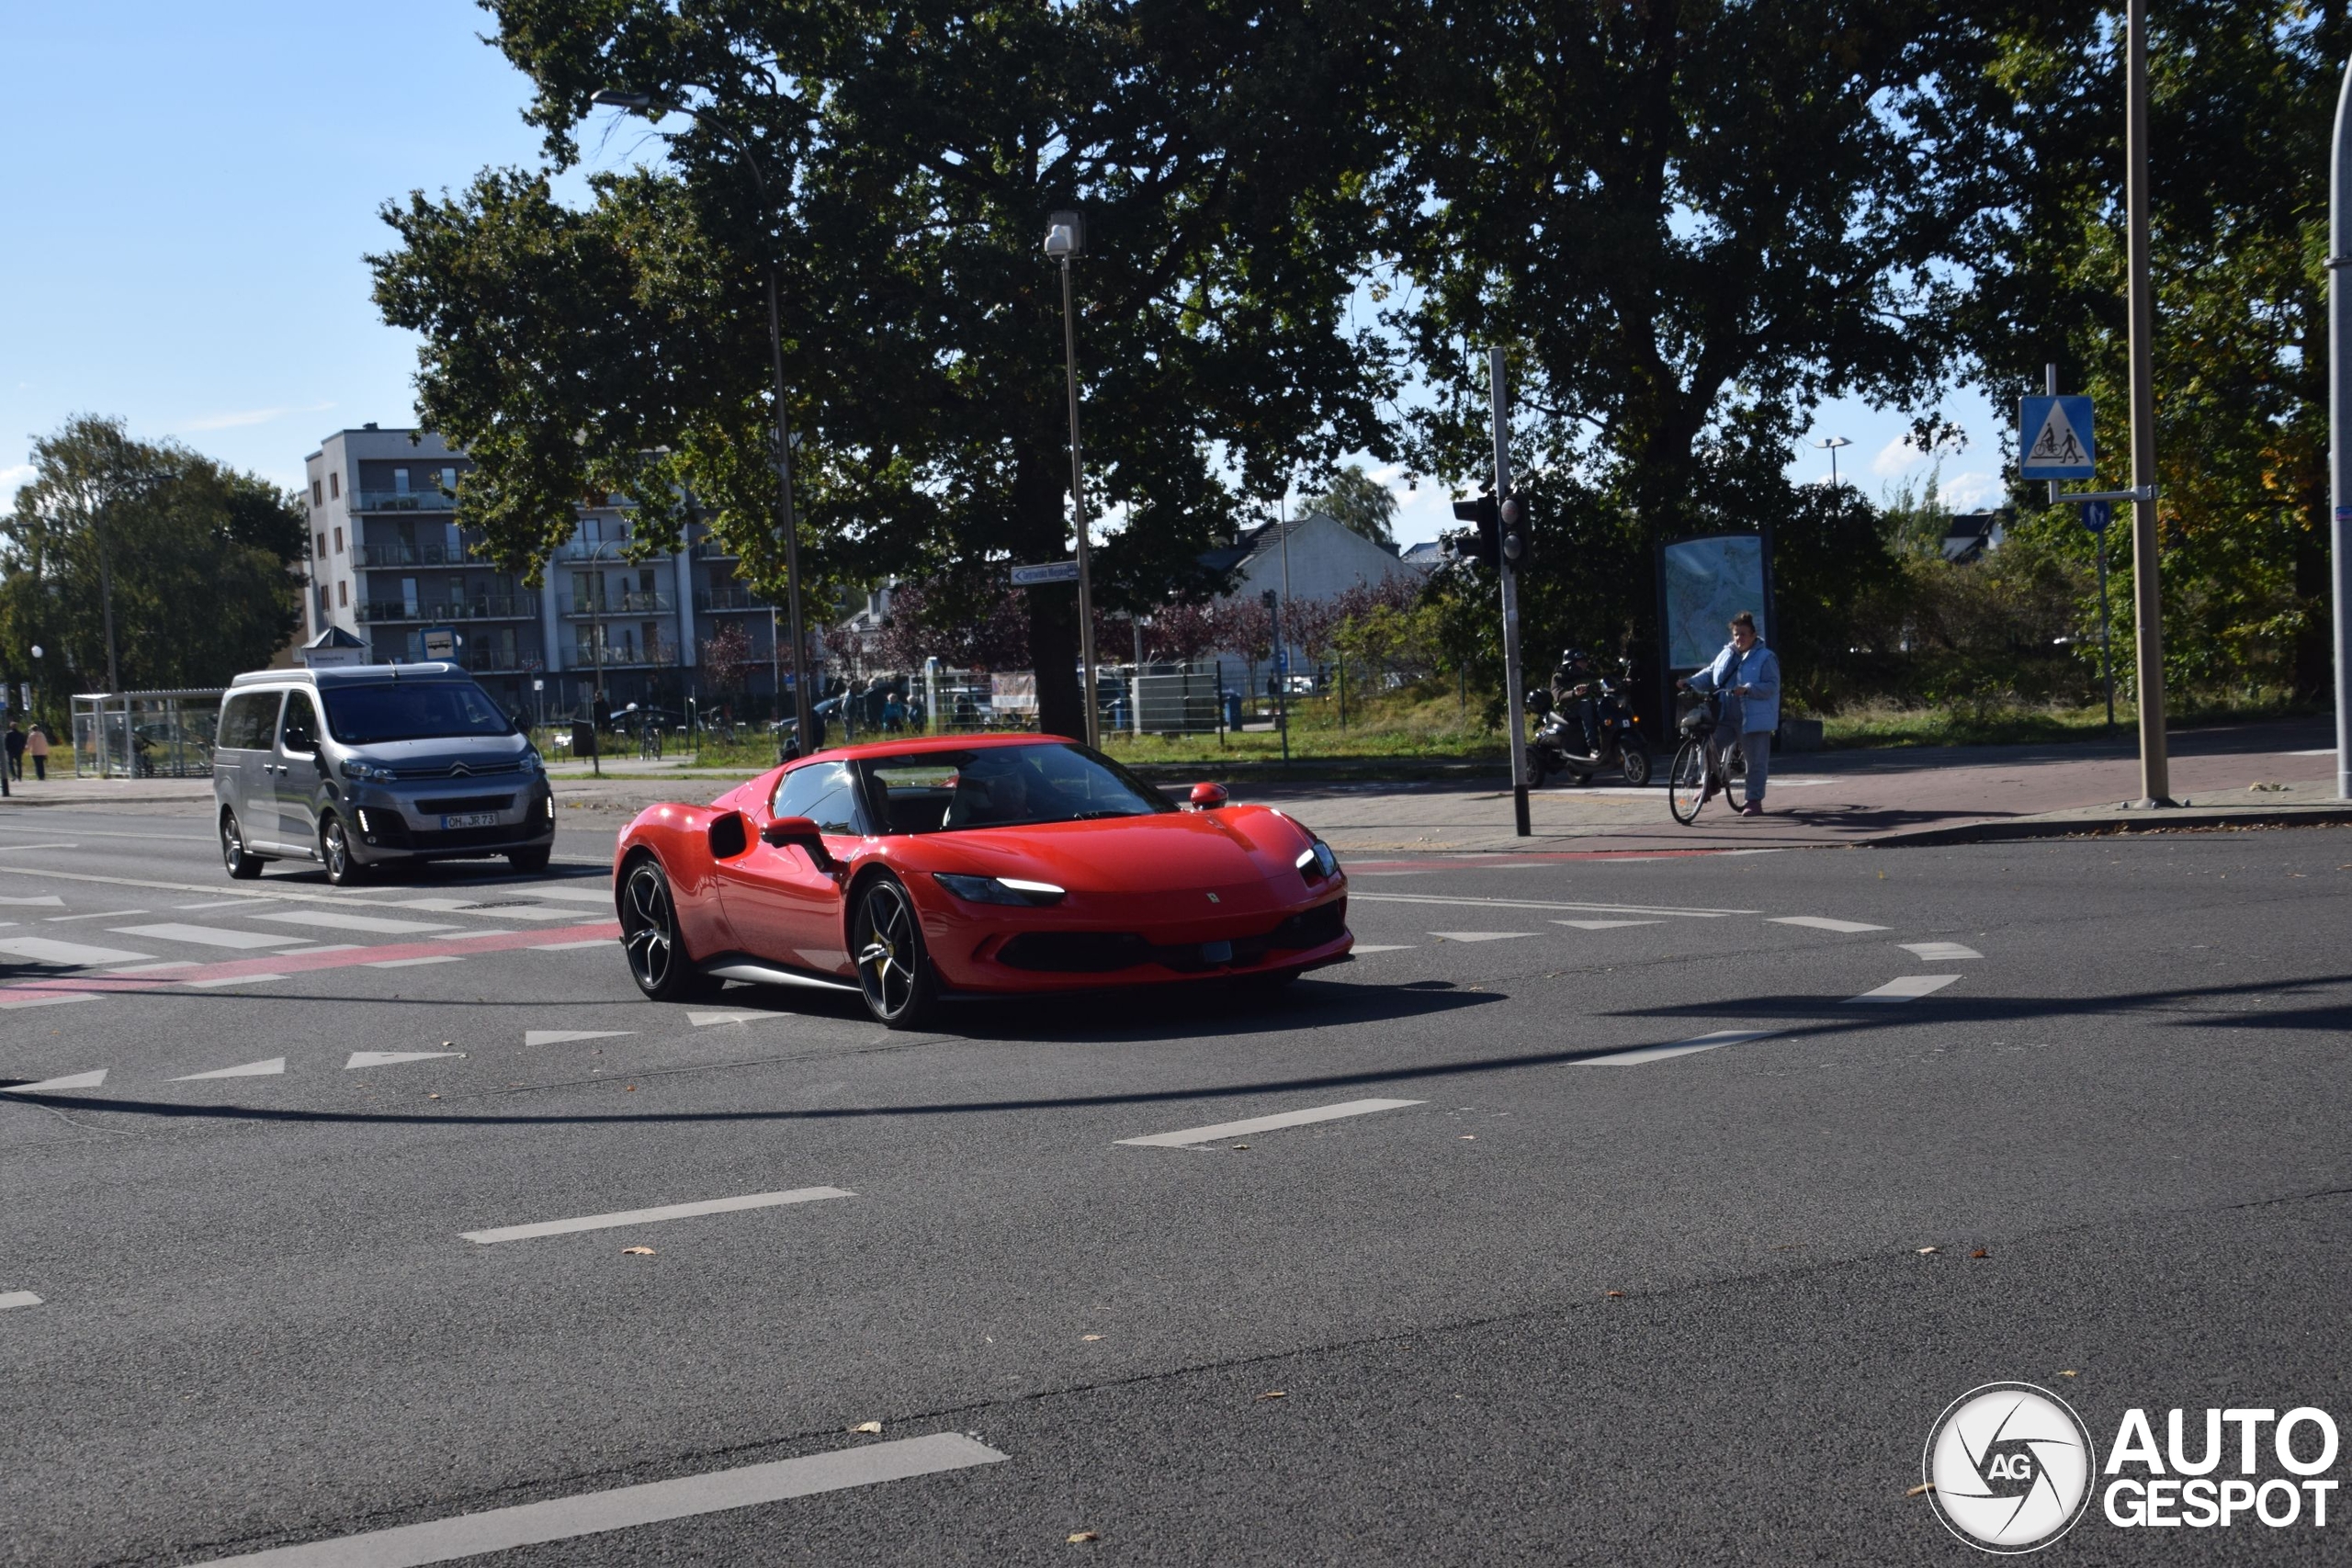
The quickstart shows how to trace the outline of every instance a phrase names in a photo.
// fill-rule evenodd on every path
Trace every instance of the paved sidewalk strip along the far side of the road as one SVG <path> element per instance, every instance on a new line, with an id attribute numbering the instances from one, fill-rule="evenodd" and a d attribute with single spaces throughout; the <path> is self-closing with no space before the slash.
<path id="1" fill-rule="evenodd" d="M 1338 851 L 1364 853 L 1722 853 L 1757 849 L 1955 844 L 2072 832 L 2157 827 L 2256 827 L 2352 823 L 2336 797 L 2333 726 L 2317 722 L 2232 724 L 2171 738 L 2178 811 L 2131 811 L 2140 764 L 2119 743 L 1907 748 L 1776 757 L 1766 813 L 1738 818 L 1712 802 L 1691 827 L 1665 811 L 1665 790 L 1630 790 L 1606 776 L 1529 797 L 1534 835 L 1512 832 L 1510 790 L 1486 783 L 1296 783 L 1251 778 L 1235 799 L 1277 804 Z M 630 759 L 635 764 L 635 759 Z M 630 816 L 654 802 L 703 802 L 729 776 L 682 776 L 677 766 L 607 764 L 604 778 L 557 773 L 564 811 Z M 1663 773 L 1663 759 L 1658 764 Z M 1214 776 L 1204 769 L 1204 776 Z M 202 778 L 52 778 L 24 785 L 9 806 L 101 806 L 209 816 Z M 586 823 L 583 823 L 586 825 Z"/>

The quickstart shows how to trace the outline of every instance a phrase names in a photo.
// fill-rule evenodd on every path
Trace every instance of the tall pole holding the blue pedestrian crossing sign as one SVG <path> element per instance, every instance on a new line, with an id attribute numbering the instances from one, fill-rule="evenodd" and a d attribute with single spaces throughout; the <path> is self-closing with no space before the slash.
<path id="1" fill-rule="evenodd" d="M 2140 806 L 2171 806 L 2164 743 L 2164 588 L 2157 576 L 2157 303 L 2147 287 L 2147 0 L 2129 0 L 2126 205 L 2131 233 L 2131 635 L 2140 672 Z M 2340 564 L 2338 564 L 2340 569 Z M 2338 724 L 2343 719 L 2338 717 Z"/>

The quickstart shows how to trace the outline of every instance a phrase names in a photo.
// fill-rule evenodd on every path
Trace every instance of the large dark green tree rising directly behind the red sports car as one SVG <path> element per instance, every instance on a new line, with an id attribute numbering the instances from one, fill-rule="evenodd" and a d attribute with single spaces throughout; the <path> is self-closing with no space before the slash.
<path id="1" fill-rule="evenodd" d="M 543 564 L 602 489 L 637 501 L 647 548 L 691 498 L 781 585 L 771 256 L 809 576 L 978 585 L 1068 552 L 1061 287 L 1040 256 L 1058 207 L 1089 228 L 1087 498 L 1098 524 L 1124 515 L 1096 562 L 1105 604 L 1207 590 L 1197 557 L 1251 501 L 1385 447 L 1383 357 L 1348 317 L 1378 61 L 1343 2 L 492 9 L 553 167 L 602 87 L 701 110 L 663 169 L 593 181 L 586 212 L 489 172 L 386 214 L 376 299 L 423 336 L 419 411 L 475 456 L 459 515 L 510 567 Z M 1075 597 L 1025 609 L 1040 717 L 1075 729 Z"/>

